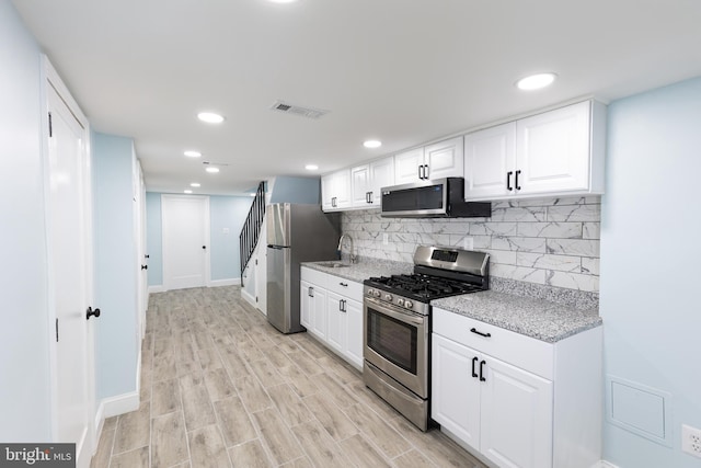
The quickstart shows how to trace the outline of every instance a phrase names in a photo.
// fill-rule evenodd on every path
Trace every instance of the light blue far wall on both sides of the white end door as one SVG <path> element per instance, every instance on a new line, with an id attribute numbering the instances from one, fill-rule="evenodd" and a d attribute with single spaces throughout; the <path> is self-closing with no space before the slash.
<path id="1" fill-rule="evenodd" d="M 163 284 L 161 231 L 161 193 L 146 194 L 146 237 L 149 258 L 149 286 Z M 250 196 L 209 196 L 210 279 L 235 279 L 241 276 L 239 233 L 249 214 Z M 229 233 L 223 230 L 229 229 Z"/>

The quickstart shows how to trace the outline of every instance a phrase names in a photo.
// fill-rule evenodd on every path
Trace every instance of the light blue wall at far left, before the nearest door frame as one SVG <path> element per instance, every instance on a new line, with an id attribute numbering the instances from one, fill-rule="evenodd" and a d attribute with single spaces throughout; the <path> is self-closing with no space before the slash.
<path id="1" fill-rule="evenodd" d="M 50 440 L 39 48 L 0 0 L 0 441 Z"/>

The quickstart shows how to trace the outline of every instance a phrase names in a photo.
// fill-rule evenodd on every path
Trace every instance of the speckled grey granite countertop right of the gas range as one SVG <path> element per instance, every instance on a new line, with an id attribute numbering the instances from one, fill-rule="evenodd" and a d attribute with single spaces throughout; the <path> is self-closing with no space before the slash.
<path id="1" fill-rule="evenodd" d="M 602 323 L 595 309 L 583 310 L 494 290 L 432 300 L 430 305 L 548 343 Z"/>

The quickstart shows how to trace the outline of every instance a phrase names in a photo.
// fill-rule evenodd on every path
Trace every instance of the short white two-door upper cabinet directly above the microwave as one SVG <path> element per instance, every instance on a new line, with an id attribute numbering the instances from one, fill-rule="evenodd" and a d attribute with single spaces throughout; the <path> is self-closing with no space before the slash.
<path id="1" fill-rule="evenodd" d="M 461 178 L 464 167 L 462 137 L 439 141 L 394 156 L 394 183 Z"/>

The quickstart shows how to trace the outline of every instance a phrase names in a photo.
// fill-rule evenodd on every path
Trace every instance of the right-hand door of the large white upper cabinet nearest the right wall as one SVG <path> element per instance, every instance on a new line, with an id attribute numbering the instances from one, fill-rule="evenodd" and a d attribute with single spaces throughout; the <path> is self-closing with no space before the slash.
<path id="1" fill-rule="evenodd" d="M 586 101 L 517 122 L 518 193 L 589 187 L 589 118 Z"/>

